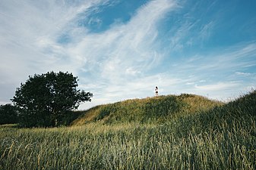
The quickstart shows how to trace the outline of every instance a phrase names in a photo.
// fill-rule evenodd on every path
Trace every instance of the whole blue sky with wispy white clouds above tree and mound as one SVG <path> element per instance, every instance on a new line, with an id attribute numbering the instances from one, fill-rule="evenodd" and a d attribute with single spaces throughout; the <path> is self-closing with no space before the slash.
<path id="1" fill-rule="evenodd" d="M 255 89 L 254 0 L 0 1 L 0 104 L 28 76 L 68 71 L 94 94 L 84 110 L 130 98 Z"/>

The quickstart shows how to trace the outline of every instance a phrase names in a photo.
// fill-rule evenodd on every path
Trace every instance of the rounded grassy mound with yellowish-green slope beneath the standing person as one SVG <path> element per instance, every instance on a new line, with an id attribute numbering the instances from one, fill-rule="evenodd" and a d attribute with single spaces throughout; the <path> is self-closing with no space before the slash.
<path id="1" fill-rule="evenodd" d="M 95 121 L 107 124 L 166 122 L 179 116 L 199 113 L 219 106 L 223 106 L 223 103 L 194 94 L 147 97 L 93 107 L 84 111 L 71 125 L 84 125 Z"/>

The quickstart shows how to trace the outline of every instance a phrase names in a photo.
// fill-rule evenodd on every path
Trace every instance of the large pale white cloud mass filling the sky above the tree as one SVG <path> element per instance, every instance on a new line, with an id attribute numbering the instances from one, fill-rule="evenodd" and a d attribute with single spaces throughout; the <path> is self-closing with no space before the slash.
<path id="1" fill-rule="evenodd" d="M 15 88 L 34 73 L 50 70 L 77 73 L 77 60 L 72 60 L 55 39 L 59 32 L 70 27 L 77 14 L 106 2 L 1 1 L 0 100 L 8 102 Z"/>

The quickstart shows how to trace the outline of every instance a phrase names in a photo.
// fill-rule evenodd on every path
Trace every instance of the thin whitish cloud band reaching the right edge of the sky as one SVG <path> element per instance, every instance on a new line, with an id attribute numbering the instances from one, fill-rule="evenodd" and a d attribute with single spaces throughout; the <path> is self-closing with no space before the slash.
<path id="1" fill-rule="evenodd" d="M 220 73 L 229 70 L 235 72 L 256 64 L 256 43 L 244 43 L 226 49 L 216 49 L 204 55 L 181 60 L 179 66 L 193 73 Z"/>

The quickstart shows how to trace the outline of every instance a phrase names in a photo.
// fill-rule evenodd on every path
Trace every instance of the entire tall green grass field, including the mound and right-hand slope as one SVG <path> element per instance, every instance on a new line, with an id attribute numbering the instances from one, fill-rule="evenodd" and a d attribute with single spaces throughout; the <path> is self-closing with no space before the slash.
<path id="1" fill-rule="evenodd" d="M 255 103 L 182 94 L 95 107 L 70 127 L 2 125 L 0 169 L 256 169 Z"/>

